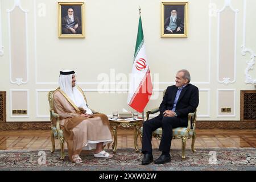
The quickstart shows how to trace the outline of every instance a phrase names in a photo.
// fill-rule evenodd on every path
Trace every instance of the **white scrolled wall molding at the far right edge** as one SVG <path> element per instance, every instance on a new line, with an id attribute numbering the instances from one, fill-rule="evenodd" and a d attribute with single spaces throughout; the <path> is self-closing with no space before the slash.
<path id="1" fill-rule="evenodd" d="M 245 82 L 246 84 L 256 84 L 256 78 L 252 78 L 249 71 L 253 70 L 253 65 L 255 64 L 255 57 L 256 57 L 256 53 L 246 47 L 246 4 L 247 4 L 247 0 L 243 0 L 243 44 L 242 44 L 242 56 L 245 56 L 246 53 L 249 53 L 250 56 L 250 60 L 246 60 L 246 64 L 247 64 L 247 68 L 245 68 Z M 253 19 L 253 18 L 252 18 Z M 253 22 L 251 22 L 253 23 Z"/>

